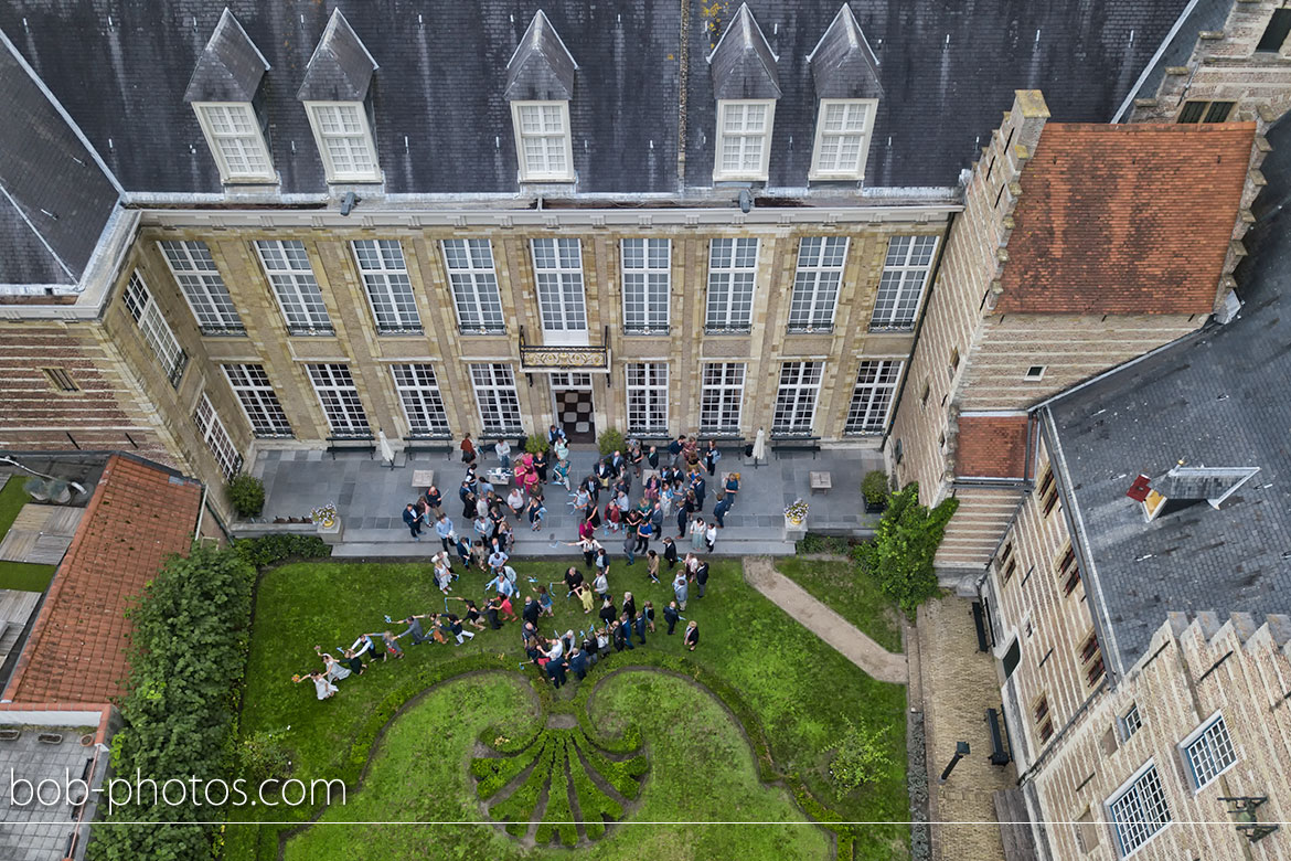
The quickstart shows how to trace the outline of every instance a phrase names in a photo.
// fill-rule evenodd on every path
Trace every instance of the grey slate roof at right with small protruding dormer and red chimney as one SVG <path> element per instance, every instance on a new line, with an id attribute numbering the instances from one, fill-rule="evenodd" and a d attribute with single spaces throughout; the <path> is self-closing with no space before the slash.
<path id="1" fill-rule="evenodd" d="M 1261 199 L 1285 200 L 1291 123 L 1268 133 L 1270 179 Z M 1110 630 L 1122 671 L 1166 613 L 1291 613 L 1291 218 L 1274 210 L 1246 241 L 1238 268 L 1245 307 L 1055 401 L 1048 409 L 1065 462 L 1064 493 L 1093 562 L 1090 607 Z M 1189 466 L 1260 467 L 1220 510 L 1201 502 L 1145 523 L 1124 496 Z M 1083 571 L 1087 585 L 1091 572 Z M 1105 638 L 1106 639 L 1106 638 Z"/>

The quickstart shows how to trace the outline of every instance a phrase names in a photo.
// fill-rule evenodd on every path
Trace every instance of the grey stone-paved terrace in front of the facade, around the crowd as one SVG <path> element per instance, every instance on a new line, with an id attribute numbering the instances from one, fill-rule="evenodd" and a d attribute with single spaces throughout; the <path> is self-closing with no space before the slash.
<path id="1" fill-rule="evenodd" d="M 497 466 L 492 449 L 483 458 L 482 469 Z M 571 481 L 574 476 L 591 472 L 595 463 L 594 447 L 573 447 L 569 453 Z M 342 543 L 333 555 L 350 558 L 373 556 L 429 556 L 439 549 L 434 529 L 423 532 L 421 542 L 413 542 L 403 523 L 403 509 L 425 488 L 413 487 L 414 470 L 434 470 L 435 484 L 444 497 L 444 511 L 452 518 L 458 533 L 470 532 L 470 523 L 462 516 L 457 489 L 465 476 L 458 453 L 451 457 L 439 453 L 417 453 L 404 461 L 396 458 L 391 469 L 367 453 L 342 452 L 332 460 L 323 451 L 270 451 L 261 452 L 252 467 L 252 475 L 265 481 L 263 523 L 241 524 L 236 533 L 248 531 L 281 531 L 272 524 L 275 518 L 309 516 L 311 509 L 334 502 L 343 524 Z M 702 516 L 711 516 L 715 502 L 714 489 L 724 472 L 740 472 L 740 497 L 726 515 L 715 555 L 742 556 L 750 554 L 791 554 L 793 543 L 785 541 L 784 507 L 794 500 L 807 500 L 809 511 L 807 528 L 831 534 L 869 536 L 878 523 L 877 515 L 866 515 L 861 501 L 861 478 L 866 471 L 882 469 L 878 452 L 857 449 L 826 449 L 815 458 L 809 452 L 771 454 L 769 461 L 757 466 L 745 461 L 737 449 L 723 449 L 718 463 L 718 480 L 709 481 L 709 494 Z M 826 471 L 833 489 L 812 494 L 808 474 Z M 633 498 L 639 498 L 639 483 L 633 484 Z M 506 491 L 501 491 L 506 496 Z M 547 516 L 540 532 L 532 532 L 528 522 L 513 527 L 516 534 L 515 552 L 529 556 L 571 555 L 571 547 L 562 542 L 576 538 L 577 522 L 567 505 L 564 488 L 546 487 Z M 602 494 L 602 507 L 605 497 Z M 665 534 L 675 537 L 676 522 L 665 523 Z M 307 527 L 292 531 L 312 532 Z M 611 554 L 621 552 L 621 533 L 602 528 L 598 538 Z M 657 546 L 657 542 L 656 542 Z M 678 551 L 689 547 L 688 538 L 678 542 Z"/>

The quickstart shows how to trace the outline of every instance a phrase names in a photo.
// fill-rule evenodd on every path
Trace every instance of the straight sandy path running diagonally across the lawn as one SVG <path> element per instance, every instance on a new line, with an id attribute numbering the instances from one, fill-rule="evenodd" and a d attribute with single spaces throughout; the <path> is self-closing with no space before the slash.
<path id="1" fill-rule="evenodd" d="M 893 684 L 909 680 L 904 654 L 892 654 L 862 634 L 806 589 L 776 571 L 768 556 L 745 556 L 744 578 L 870 676 Z"/>

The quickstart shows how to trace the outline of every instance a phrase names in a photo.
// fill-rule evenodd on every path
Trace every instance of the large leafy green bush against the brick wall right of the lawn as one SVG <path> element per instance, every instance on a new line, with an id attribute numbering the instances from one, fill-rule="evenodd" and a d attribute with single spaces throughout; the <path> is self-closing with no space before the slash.
<path id="1" fill-rule="evenodd" d="M 908 616 L 913 617 L 919 604 L 937 594 L 932 559 L 958 507 L 959 500 L 950 497 L 930 511 L 919 505 L 919 485 L 911 481 L 892 494 L 874 541 L 859 547 L 861 565 Z"/>

